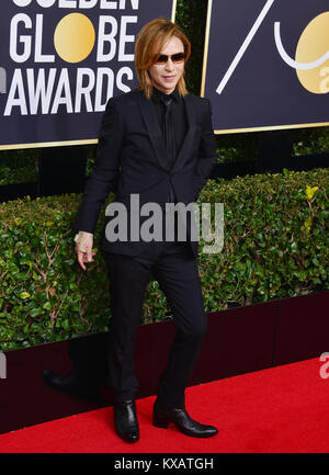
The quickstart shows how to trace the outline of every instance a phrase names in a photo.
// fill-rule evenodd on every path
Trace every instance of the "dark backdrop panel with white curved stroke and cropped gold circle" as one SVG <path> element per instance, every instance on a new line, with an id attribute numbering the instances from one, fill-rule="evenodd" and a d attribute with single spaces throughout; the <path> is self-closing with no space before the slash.
<path id="1" fill-rule="evenodd" d="M 202 95 L 217 133 L 329 125 L 328 0 L 209 0 Z"/>

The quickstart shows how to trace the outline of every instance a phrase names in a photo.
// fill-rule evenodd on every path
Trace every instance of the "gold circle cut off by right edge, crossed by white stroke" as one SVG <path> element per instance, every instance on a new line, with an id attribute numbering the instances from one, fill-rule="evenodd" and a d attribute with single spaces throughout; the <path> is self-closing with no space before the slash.
<path id="1" fill-rule="evenodd" d="M 297 63 L 313 63 L 329 50 L 329 12 L 316 16 L 304 30 L 296 49 Z M 329 73 L 329 59 L 314 69 L 296 70 L 304 88 L 315 94 L 324 94 L 324 77 Z M 328 76 L 327 76 L 328 77 Z M 326 79 L 329 83 L 329 80 Z"/>

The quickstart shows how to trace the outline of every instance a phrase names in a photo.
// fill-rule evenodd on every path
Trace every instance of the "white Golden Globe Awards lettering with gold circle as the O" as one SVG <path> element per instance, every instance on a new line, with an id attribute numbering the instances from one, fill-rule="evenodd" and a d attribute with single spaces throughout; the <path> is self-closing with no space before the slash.
<path id="1" fill-rule="evenodd" d="M 131 90 L 131 29 L 138 22 L 139 0 L 10 1 L 14 70 L 11 77 L 8 68 L 0 70 L 0 92 L 8 94 L 3 116 L 102 112 L 115 89 Z"/>

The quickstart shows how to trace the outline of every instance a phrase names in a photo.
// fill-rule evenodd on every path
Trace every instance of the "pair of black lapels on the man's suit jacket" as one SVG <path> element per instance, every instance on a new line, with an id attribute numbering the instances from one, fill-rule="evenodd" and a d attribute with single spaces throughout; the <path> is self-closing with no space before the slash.
<path id="1" fill-rule="evenodd" d="M 196 124 L 196 115 L 195 110 L 192 104 L 191 94 L 186 94 L 183 98 L 186 117 L 188 117 L 188 133 L 185 135 L 183 145 L 177 156 L 175 162 L 172 167 L 172 171 L 177 171 L 184 165 L 186 154 L 191 149 L 194 139 L 195 133 L 195 124 Z M 160 126 L 158 124 L 158 117 L 156 115 L 155 106 L 151 100 L 145 98 L 144 93 L 139 94 L 139 106 L 143 115 L 143 120 L 145 123 L 145 127 L 149 134 L 157 160 L 161 168 L 164 170 L 169 170 L 168 159 L 167 159 L 167 149 L 162 138 L 162 133 Z"/>

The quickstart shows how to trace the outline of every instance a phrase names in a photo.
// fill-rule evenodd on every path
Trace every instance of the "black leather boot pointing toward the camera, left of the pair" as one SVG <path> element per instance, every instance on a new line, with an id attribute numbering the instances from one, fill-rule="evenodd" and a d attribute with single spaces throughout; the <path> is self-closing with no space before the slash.
<path id="1" fill-rule="evenodd" d="M 116 434 L 125 442 L 139 440 L 139 427 L 135 400 L 114 404 L 114 425 Z"/>

